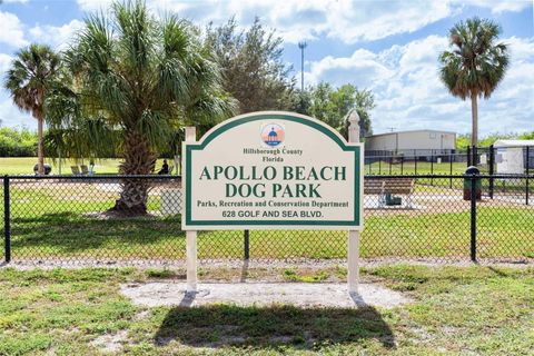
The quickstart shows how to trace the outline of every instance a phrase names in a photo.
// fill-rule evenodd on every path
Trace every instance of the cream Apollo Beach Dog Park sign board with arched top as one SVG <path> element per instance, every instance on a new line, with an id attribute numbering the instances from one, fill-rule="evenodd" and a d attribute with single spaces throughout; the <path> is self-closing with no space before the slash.
<path id="1" fill-rule="evenodd" d="M 182 152 L 184 230 L 362 228 L 362 145 L 322 121 L 247 113 Z"/>

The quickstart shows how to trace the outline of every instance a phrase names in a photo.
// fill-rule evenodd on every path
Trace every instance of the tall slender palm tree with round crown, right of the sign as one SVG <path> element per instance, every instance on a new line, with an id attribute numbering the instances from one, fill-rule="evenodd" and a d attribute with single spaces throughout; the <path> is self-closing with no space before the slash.
<path id="1" fill-rule="evenodd" d="M 508 49 L 495 43 L 501 27 L 487 19 L 473 18 L 449 30 L 451 51 L 439 56 L 441 79 L 455 97 L 471 98 L 471 144 L 478 141 L 477 97 L 490 98 L 508 66 Z"/>

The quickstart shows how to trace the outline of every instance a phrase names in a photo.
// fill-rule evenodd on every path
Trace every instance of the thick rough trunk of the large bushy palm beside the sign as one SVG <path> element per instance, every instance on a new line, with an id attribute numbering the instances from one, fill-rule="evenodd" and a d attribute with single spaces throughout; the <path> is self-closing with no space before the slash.
<path id="1" fill-rule="evenodd" d="M 120 175 L 149 175 L 156 166 L 156 155 L 151 151 L 147 139 L 137 132 L 127 132 L 125 139 L 125 161 L 119 166 Z M 120 198 L 111 210 L 126 216 L 147 214 L 147 179 L 122 179 Z"/>

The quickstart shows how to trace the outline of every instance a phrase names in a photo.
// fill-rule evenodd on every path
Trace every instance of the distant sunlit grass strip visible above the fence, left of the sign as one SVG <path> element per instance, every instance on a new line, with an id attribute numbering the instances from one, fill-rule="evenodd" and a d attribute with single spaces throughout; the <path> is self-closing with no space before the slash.
<path id="1" fill-rule="evenodd" d="M 46 159 L 46 164 L 52 166 L 52 175 L 59 175 L 59 161 Z M 119 172 L 120 159 L 108 158 L 108 159 L 98 159 L 95 161 L 95 172 L 98 175 L 116 175 Z M 164 159 L 158 159 L 156 162 L 156 170 L 161 168 Z M 33 175 L 33 166 L 37 165 L 37 157 L 2 157 L 0 158 L 0 176 L 3 175 Z M 89 165 L 89 160 L 73 160 L 66 159 L 61 162 L 61 174 L 70 176 L 72 171 L 70 166 L 77 165 Z M 169 166 L 174 166 L 169 161 Z M 176 172 L 176 170 L 175 170 Z"/>

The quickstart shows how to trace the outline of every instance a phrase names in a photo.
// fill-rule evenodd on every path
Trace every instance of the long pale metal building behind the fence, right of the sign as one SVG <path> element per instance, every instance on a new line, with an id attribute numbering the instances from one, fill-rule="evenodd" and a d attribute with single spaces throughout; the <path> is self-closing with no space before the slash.
<path id="1" fill-rule="evenodd" d="M 445 155 L 456 148 L 456 134 L 438 130 L 411 130 L 372 135 L 365 138 L 366 151 L 395 151 L 412 155 Z"/>

